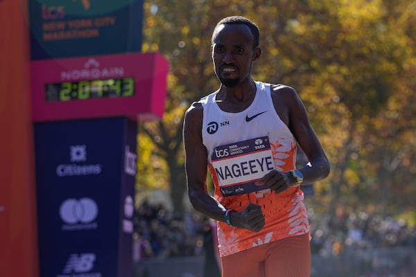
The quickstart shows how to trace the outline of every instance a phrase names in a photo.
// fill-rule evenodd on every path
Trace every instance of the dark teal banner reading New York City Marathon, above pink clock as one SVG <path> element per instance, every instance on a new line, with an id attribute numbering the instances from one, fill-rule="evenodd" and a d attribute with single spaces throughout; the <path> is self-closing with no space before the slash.
<path id="1" fill-rule="evenodd" d="M 141 51 L 144 0 L 28 0 L 31 59 Z"/>

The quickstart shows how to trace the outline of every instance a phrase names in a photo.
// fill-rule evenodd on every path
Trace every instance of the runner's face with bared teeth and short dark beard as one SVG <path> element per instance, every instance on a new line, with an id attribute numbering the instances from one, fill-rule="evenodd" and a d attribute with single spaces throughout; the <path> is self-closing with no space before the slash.
<path id="1" fill-rule="evenodd" d="M 259 57 L 253 39 L 244 24 L 223 24 L 214 30 L 211 45 L 214 71 L 225 87 L 235 87 L 250 79 L 252 62 Z"/>

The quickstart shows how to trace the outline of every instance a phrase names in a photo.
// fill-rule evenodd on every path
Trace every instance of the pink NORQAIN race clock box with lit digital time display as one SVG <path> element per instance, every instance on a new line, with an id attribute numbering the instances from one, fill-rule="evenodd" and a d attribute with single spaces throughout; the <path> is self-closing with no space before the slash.
<path id="1" fill-rule="evenodd" d="M 33 121 L 109 116 L 160 120 L 168 65 L 159 53 L 32 61 Z"/>

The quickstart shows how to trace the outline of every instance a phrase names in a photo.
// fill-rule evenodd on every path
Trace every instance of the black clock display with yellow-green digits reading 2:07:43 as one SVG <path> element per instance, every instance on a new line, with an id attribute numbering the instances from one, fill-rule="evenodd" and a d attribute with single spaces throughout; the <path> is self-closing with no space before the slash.
<path id="1" fill-rule="evenodd" d="M 70 101 L 135 95 L 134 78 L 83 80 L 45 84 L 45 100 Z"/>

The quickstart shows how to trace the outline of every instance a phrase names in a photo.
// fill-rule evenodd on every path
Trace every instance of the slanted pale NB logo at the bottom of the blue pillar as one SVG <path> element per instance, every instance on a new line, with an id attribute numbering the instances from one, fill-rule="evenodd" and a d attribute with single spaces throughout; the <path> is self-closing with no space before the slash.
<path id="1" fill-rule="evenodd" d="M 95 253 L 71 254 L 62 270 L 63 275 L 57 277 L 101 277 L 101 273 L 91 272 L 95 260 Z"/>

